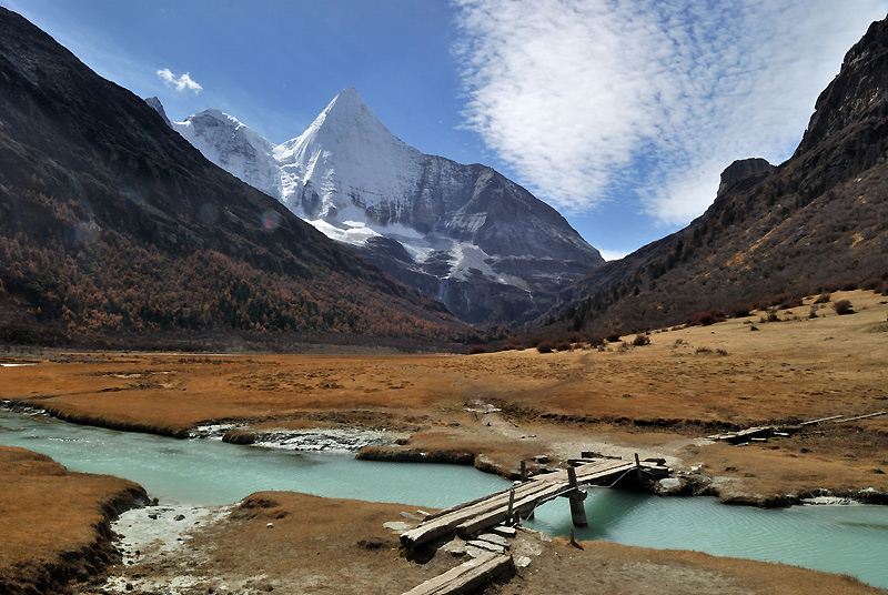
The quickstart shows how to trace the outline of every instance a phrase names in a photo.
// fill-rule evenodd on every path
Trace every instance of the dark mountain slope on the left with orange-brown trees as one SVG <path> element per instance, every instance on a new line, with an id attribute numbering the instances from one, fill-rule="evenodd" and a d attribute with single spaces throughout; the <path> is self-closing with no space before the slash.
<path id="1" fill-rule="evenodd" d="M 461 329 L 0 9 L 0 340 L 285 345 Z"/>

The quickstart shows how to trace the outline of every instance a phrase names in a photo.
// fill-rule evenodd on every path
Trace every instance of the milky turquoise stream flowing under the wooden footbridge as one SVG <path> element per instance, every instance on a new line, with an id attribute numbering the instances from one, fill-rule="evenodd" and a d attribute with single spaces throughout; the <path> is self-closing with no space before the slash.
<path id="1" fill-rule="evenodd" d="M 473 467 L 356 461 L 349 453 L 236 446 L 82 426 L 0 411 L 0 444 L 47 454 L 71 471 L 141 484 L 164 504 L 231 504 L 265 490 L 441 508 L 503 490 L 509 482 Z M 581 539 L 784 562 L 847 573 L 888 587 L 888 507 L 817 505 L 760 510 L 708 497 L 657 497 L 591 488 Z M 567 501 L 537 508 L 525 525 L 571 530 Z"/>

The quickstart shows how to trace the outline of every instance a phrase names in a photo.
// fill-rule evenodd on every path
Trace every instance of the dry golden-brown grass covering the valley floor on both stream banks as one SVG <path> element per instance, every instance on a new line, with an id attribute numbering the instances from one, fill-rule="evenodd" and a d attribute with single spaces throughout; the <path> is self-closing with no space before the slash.
<path id="1" fill-rule="evenodd" d="M 738 477 L 738 484 L 729 484 L 733 492 L 723 494 L 727 500 L 767 500 L 820 487 L 888 491 L 888 474 L 874 472 L 888 471 L 886 417 L 823 424 L 763 445 L 688 446 L 692 438 L 725 424 L 888 409 L 888 332 L 882 331 L 888 307 L 871 293 L 834 295 L 840 298 L 850 299 L 857 313 L 839 316 L 824 309 L 808 319 L 808 299 L 780 313 L 786 322 L 759 323 L 755 313 L 706 327 L 655 332 L 650 345 L 603 352 L 50 354 L 34 366 L 2 369 L 0 397 L 167 433 L 208 421 L 262 428 L 395 427 L 412 434 L 405 448 L 484 453 L 506 468 L 533 454 L 568 456 L 593 446 L 667 453 L 686 466 L 703 462 L 712 475 Z M 749 332 L 747 321 L 759 332 Z M 472 413 L 466 411 L 470 403 L 493 403 L 504 411 Z M 12 536 L 0 545 L 2 561 L 46 561 L 89 542 L 94 535 L 90 527 L 101 516 L 95 503 L 128 485 L 68 474 L 43 457 L 17 456 L 0 465 L 17 470 L 0 477 L 0 531 Z M 13 485 L 8 482 L 16 482 L 16 488 L 6 490 Z M 61 501 L 57 495 L 63 490 L 72 496 Z M 22 497 L 16 500 L 13 493 Z M 351 588 L 331 578 L 343 576 L 342 567 L 356 577 L 355 593 L 382 585 L 379 581 L 390 581 L 389 591 L 406 591 L 440 571 L 405 561 L 393 536 L 381 528 L 385 520 L 398 520 L 403 507 L 341 501 L 327 505 L 330 501 L 297 495 L 270 500 L 276 504 L 241 510 L 224 526 L 206 530 L 202 543 L 213 557 L 195 563 L 220 576 L 229 568 L 268 568 L 272 583 L 280 576 L 286 584 L 315 585 L 311 588 L 317 593 Z M 349 523 L 342 521 L 345 508 L 352 513 Z M 74 512 L 51 512 L 59 510 Z M 268 522 L 274 523 L 273 530 L 265 527 Z M 380 545 L 359 547 L 360 539 Z M 686 593 L 710 593 L 714 586 L 725 593 L 874 592 L 845 577 L 786 566 L 604 543 L 586 544 L 585 552 L 556 543 L 522 575 L 508 589 L 551 593 L 574 581 L 572 591 L 596 584 L 605 593 L 639 593 L 663 591 L 673 581 L 679 585 L 674 591 Z M 334 591 L 323 586 L 327 584 Z"/>

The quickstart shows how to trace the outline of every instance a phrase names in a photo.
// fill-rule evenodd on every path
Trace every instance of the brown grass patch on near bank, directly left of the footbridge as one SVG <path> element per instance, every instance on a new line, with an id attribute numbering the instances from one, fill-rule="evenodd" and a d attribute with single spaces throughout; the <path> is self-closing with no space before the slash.
<path id="1" fill-rule="evenodd" d="M 176 555 L 148 556 L 119 572 L 135 585 L 140 577 L 152 584 L 184 578 L 193 585 L 189 593 L 221 585 L 230 593 L 403 593 L 455 562 L 442 556 L 421 565 L 402 556 L 398 536 L 383 527 L 405 521 L 402 511 L 416 508 L 262 492 L 220 523 L 196 528 Z"/>

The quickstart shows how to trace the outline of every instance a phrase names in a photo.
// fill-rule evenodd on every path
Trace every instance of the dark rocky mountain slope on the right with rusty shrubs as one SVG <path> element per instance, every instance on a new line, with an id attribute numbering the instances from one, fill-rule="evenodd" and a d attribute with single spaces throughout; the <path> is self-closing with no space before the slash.
<path id="1" fill-rule="evenodd" d="M 551 321 L 636 331 L 698 311 L 888 282 L 888 22 L 872 23 L 820 94 L 794 155 L 733 165 L 686 229 L 607 263 Z M 743 307 L 738 307 L 741 311 Z"/>

